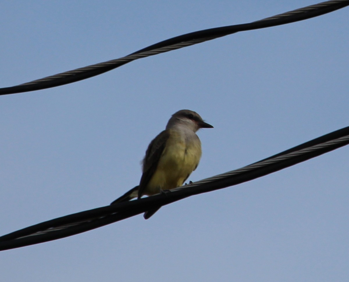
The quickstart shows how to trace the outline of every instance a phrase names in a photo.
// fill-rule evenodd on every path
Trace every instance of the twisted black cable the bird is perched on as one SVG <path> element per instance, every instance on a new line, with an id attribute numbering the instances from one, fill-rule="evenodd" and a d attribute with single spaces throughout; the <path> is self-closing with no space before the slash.
<path id="1" fill-rule="evenodd" d="M 349 126 L 243 168 L 178 187 L 166 194 L 82 211 L 3 235 L 0 237 L 0 251 L 43 243 L 102 227 L 192 195 L 215 191 L 268 175 L 347 144 L 349 144 Z"/>

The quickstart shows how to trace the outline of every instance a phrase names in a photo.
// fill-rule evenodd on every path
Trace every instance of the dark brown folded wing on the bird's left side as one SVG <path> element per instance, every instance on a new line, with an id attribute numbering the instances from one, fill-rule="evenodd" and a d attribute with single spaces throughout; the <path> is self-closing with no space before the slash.
<path id="1" fill-rule="evenodd" d="M 141 198 L 144 189 L 147 187 L 151 177 L 153 176 L 159 159 L 166 147 L 166 141 L 170 137 L 170 132 L 164 130 L 159 133 L 153 141 L 150 142 L 148 149 L 146 151 L 146 156 L 143 160 L 143 174 L 138 189 L 138 199 Z"/>

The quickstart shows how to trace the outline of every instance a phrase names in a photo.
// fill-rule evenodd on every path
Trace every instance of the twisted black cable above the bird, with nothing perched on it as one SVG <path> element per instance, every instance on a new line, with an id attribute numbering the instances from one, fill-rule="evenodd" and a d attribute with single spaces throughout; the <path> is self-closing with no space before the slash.
<path id="1" fill-rule="evenodd" d="M 245 23 L 229 25 L 225 27 L 205 29 L 188 34 L 176 36 L 162 42 L 150 45 L 139 51 L 131 53 L 125 57 L 119 59 L 102 62 L 95 65 L 90 65 L 82 68 L 77 68 L 72 71 L 47 76 L 42 79 L 30 81 L 27 83 L 19 84 L 17 86 L 0 88 L 0 95 L 14 94 L 28 91 L 35 91 L 40 89 L 46 89 L 64 84 L 87 79 L 92 76 L 96 76 L 114 68 L 120 67 L 136 59 L 149 57 L 159 53 L 164 53 L 186 46 L 205 42 L 207 40 L 215 39 L 218 37 L 233 34 L 239 31 L 261 29 L 267 27 L 274 27 L 276 25 L 297 22 L 306 20 L 308 18 L 323 15 L 334 10 L 341 9 L 349 5 L 349 0 L 331 0 L 326 2 L 317 3 L 315 5 L 307 6 L 304 8 L 292 10 L 283 14 L 275 15 L 265 18 L 263 20 Z"/>

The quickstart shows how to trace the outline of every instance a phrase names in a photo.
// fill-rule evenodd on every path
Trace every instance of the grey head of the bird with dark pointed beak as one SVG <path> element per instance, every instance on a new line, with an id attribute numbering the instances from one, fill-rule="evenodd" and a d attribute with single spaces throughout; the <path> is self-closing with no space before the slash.
<path id="1" fill-rule="evenodd" d="M 166 125 L 166 129 L 176 125 L 184 125 L 194 132 L 198 131 L 200 128 L 213 128 L 212 125 L 205 123 L 198 113 L 191 110 L 180 110 L 172 114 L 172 117 Z"/>

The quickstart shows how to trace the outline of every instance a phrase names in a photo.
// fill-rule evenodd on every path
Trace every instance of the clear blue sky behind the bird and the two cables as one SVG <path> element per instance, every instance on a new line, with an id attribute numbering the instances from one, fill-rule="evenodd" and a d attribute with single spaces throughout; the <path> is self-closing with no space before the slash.
<path id="1" fill-rule="evenodd" d="M 187 32 L 316 3 L 5 1 L 0 86 L 132 53 Z M 223 173 L 349 125 L 349 8 L 0 97 L 0 235 L 108 205 L 139 183 L 148 143 L 198 112 Z M 349 147 L 103 228 L 0 253 L 0 280 L 348 281 Z"/>

